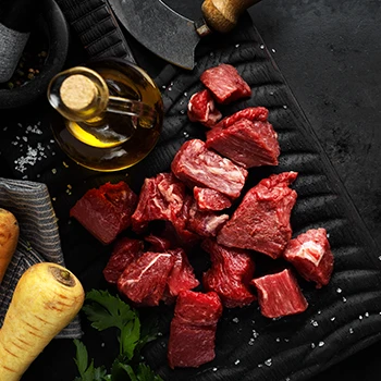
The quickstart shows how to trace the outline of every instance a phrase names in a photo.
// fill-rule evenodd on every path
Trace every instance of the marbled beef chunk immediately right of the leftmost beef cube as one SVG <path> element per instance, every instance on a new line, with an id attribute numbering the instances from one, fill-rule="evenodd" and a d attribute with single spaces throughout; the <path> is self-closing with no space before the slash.
<path id="1" fill-rule="evenodd" d="M 185 185 L 172 173 L 159 173 L 146 179 L 132 216 L 134 232 L 144 232 L 150 221 L 174 221 L 183 208 L 184 196 Z"/>

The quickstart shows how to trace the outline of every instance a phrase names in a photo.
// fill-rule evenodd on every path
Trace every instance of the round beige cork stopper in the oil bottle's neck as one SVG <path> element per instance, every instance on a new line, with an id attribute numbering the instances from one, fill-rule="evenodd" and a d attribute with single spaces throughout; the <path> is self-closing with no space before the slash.
<path id="1" fill-rule="evenodd" d="M 75 111 L 88 108 L 94 102 L 97 93 L 93 81 L 83 74 L 70 75 L 62 82 L 60 88 L 62 102 Z"/>

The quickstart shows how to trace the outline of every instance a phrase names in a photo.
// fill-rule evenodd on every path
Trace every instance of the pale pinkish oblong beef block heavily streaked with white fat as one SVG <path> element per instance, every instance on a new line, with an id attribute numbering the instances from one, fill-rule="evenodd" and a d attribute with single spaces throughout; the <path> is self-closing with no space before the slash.
<path id="1" fill-rule="evenodd" d="M 239 197 L 247 176 L 245 169 L 207 149 L 199 139 L 185 142 L 171 168 L 174 175 L 190 188 L 208 187 L 231 198 Z"/>

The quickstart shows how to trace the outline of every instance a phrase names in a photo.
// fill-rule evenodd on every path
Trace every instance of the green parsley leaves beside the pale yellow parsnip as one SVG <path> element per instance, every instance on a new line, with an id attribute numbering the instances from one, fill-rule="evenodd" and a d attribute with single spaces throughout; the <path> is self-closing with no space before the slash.
<path id="1" fill-rule="evenodd" d="M 142 334 L 138 312 L 108 291 L 93 290 L 86 294 L 85 302 L 83 311 L 93 328 L 98 331 L 118 329 L 120 353 L 108 373 L 103 366 L 96 368 L 94 359 L 88 359 L 86 346 L 74 340 L 74 360 L 79 372 L 75 381 L 162 381 L 146 364 L 137 361 L 142 347 L 156 339 L 150 333 Z"/>

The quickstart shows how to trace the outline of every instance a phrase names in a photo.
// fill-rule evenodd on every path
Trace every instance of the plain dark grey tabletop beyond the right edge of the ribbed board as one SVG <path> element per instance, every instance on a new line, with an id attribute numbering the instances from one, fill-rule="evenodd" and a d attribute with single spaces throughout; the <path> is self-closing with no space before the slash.
<path id="1" fill-rule="evenodd" d="M 266 0 L 250 15 L 380 247 L 381 1 Z M 379 380 L 380 353 L 312 380 Z"/>

